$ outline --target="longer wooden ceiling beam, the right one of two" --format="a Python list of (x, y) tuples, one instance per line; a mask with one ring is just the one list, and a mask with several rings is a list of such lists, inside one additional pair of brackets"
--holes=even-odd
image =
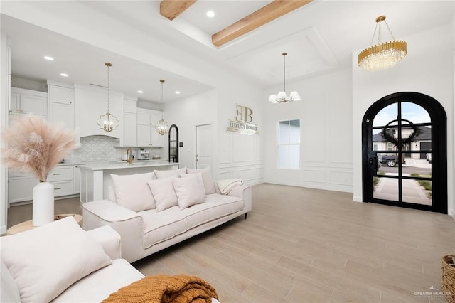
[(218, 31), (212, 35), (212, 43), (215, 46), (223, 46), (235, 38), (248, 33), (265, 23), (279, 18), (294, 9), (309, 4), (313, 0), (274, 0), (272, 3), (263, 6), (252, 14), (232, 23), (227, 28)]

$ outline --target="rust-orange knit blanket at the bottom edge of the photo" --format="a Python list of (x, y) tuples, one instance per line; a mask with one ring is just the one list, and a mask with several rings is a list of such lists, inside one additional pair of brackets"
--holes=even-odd
[(199, 277), (155, 275), (122, 287), (102, 302), (210, 303), (218, 299), (215, 289)]

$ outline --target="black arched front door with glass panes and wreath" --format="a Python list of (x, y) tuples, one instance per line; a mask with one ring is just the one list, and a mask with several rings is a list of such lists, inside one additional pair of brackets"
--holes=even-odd
[(375, 102), (362, 122), (363, 201), (447, 213), (446, 120), (418, 92)]

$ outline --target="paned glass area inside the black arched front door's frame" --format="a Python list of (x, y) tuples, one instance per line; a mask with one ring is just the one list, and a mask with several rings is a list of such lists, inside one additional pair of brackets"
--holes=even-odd
[[(373, 199), (432, 205), (432, 128), (429, 114), (412, 102), (383, 107), (373, 119), (370, 171)], [(370, 166), (372, 167), (372, 166)]]

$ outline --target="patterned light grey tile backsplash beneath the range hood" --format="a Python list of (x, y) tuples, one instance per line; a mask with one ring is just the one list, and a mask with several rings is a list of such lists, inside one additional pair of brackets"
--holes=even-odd
[(119, 139), (109, 136), (80, 137), (80, 147), (76, 149), (65, 161), (67, 162), (92, 162), (115, 161)]

